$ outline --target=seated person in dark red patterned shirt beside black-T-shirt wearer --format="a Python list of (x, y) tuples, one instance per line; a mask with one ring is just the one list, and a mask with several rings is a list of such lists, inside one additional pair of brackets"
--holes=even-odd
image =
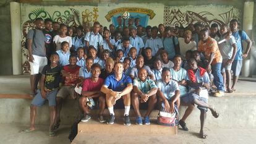
[(64, 85), (59, 90), (56, 97), (56, 119), (54, 124), (54, 129), (58, 129), (61, 122), (61, 108), (62, 101), (70, 96), (70, 98), (75, 99), (75, 86), (79, 82), (79, 69), (77, 66), (77, 56), (75, 54), (70, 55), (69, 57), (69, 65), (63, 67), (64, 69)]

